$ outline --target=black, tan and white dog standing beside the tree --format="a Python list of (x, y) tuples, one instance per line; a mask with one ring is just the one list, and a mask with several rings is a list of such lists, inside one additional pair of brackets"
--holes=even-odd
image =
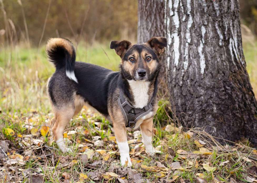
[(111, 41), (110, 48), (121, 57), (120, 71), (114, 72), (75, 62), (76, 52), (71, 41), (49, 39), (46, 53), (56, 71), (48, 81), (48, 95), (55, 114), (52, 133), (60, 150), (71, 151), (63, 142), (64, 129), (73, 116), (88, 105), (113, 123), (122, 166), (132, 165), (127, 127), (140, 126), (146, 153), (157, 153), (152, 146), (153, 116), (157, 110), (159, 56), (166, 46), (164, 37), (153, 37), (146, 43), (134, 45), (126, 40)]

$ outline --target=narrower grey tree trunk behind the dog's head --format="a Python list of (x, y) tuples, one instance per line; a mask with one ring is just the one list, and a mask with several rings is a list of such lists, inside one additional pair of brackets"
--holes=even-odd
[[(137, 43), (145, 43), (154, 36), (166, 36), (164, 9), (164, 0), (138, 0)], [(166, 54), (160, 57), (160, 61), (159, 81), (166, 85)]]

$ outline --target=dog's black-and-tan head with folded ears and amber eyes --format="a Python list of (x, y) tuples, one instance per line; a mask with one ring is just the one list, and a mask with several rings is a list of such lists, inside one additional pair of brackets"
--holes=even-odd
[(159, 56), (167, 46), (164, 37), (153, 37), (144, 44), (111, 41), (110, 48), (121, 57), (121, 74), (128, 80), (151, 81), (160, 70)]

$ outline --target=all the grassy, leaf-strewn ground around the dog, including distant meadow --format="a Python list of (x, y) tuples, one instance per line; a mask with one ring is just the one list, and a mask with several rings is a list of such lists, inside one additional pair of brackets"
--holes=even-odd
[[(256, 48), (244, 46), (255, 93)], [(77, 60), (117, 71), (120, 59), (108, 44), (81, 43)], [(161, 94), (153, 138), (161, 154), (148, 156), (135, 129), (127, 133), (133, 167), (121, 167), (112, 124), (86, 107), (63, 134), (73, 152), (61, 153), (51, 136), (53, 113), (46, 93), (54, 70), (44, 47), (0, 51), (1, 183), (257, 182), (257, 150), (247, 140), (220, 145), (201, 129), (183, 128), (168, 117), (170, 104)]]

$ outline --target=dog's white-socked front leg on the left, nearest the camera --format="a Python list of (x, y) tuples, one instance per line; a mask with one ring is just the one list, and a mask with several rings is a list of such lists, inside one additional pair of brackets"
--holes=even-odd
[(130, 167), (132, 166), (132, 163), (129, 157), (129, 144), (127, 141), (127, 129), (125, 127), (125, 124), (113, 123), (113, 129), (118, 147), (120, 149), (121, 165), (123, 166), (127, 162), (127, 166)]

